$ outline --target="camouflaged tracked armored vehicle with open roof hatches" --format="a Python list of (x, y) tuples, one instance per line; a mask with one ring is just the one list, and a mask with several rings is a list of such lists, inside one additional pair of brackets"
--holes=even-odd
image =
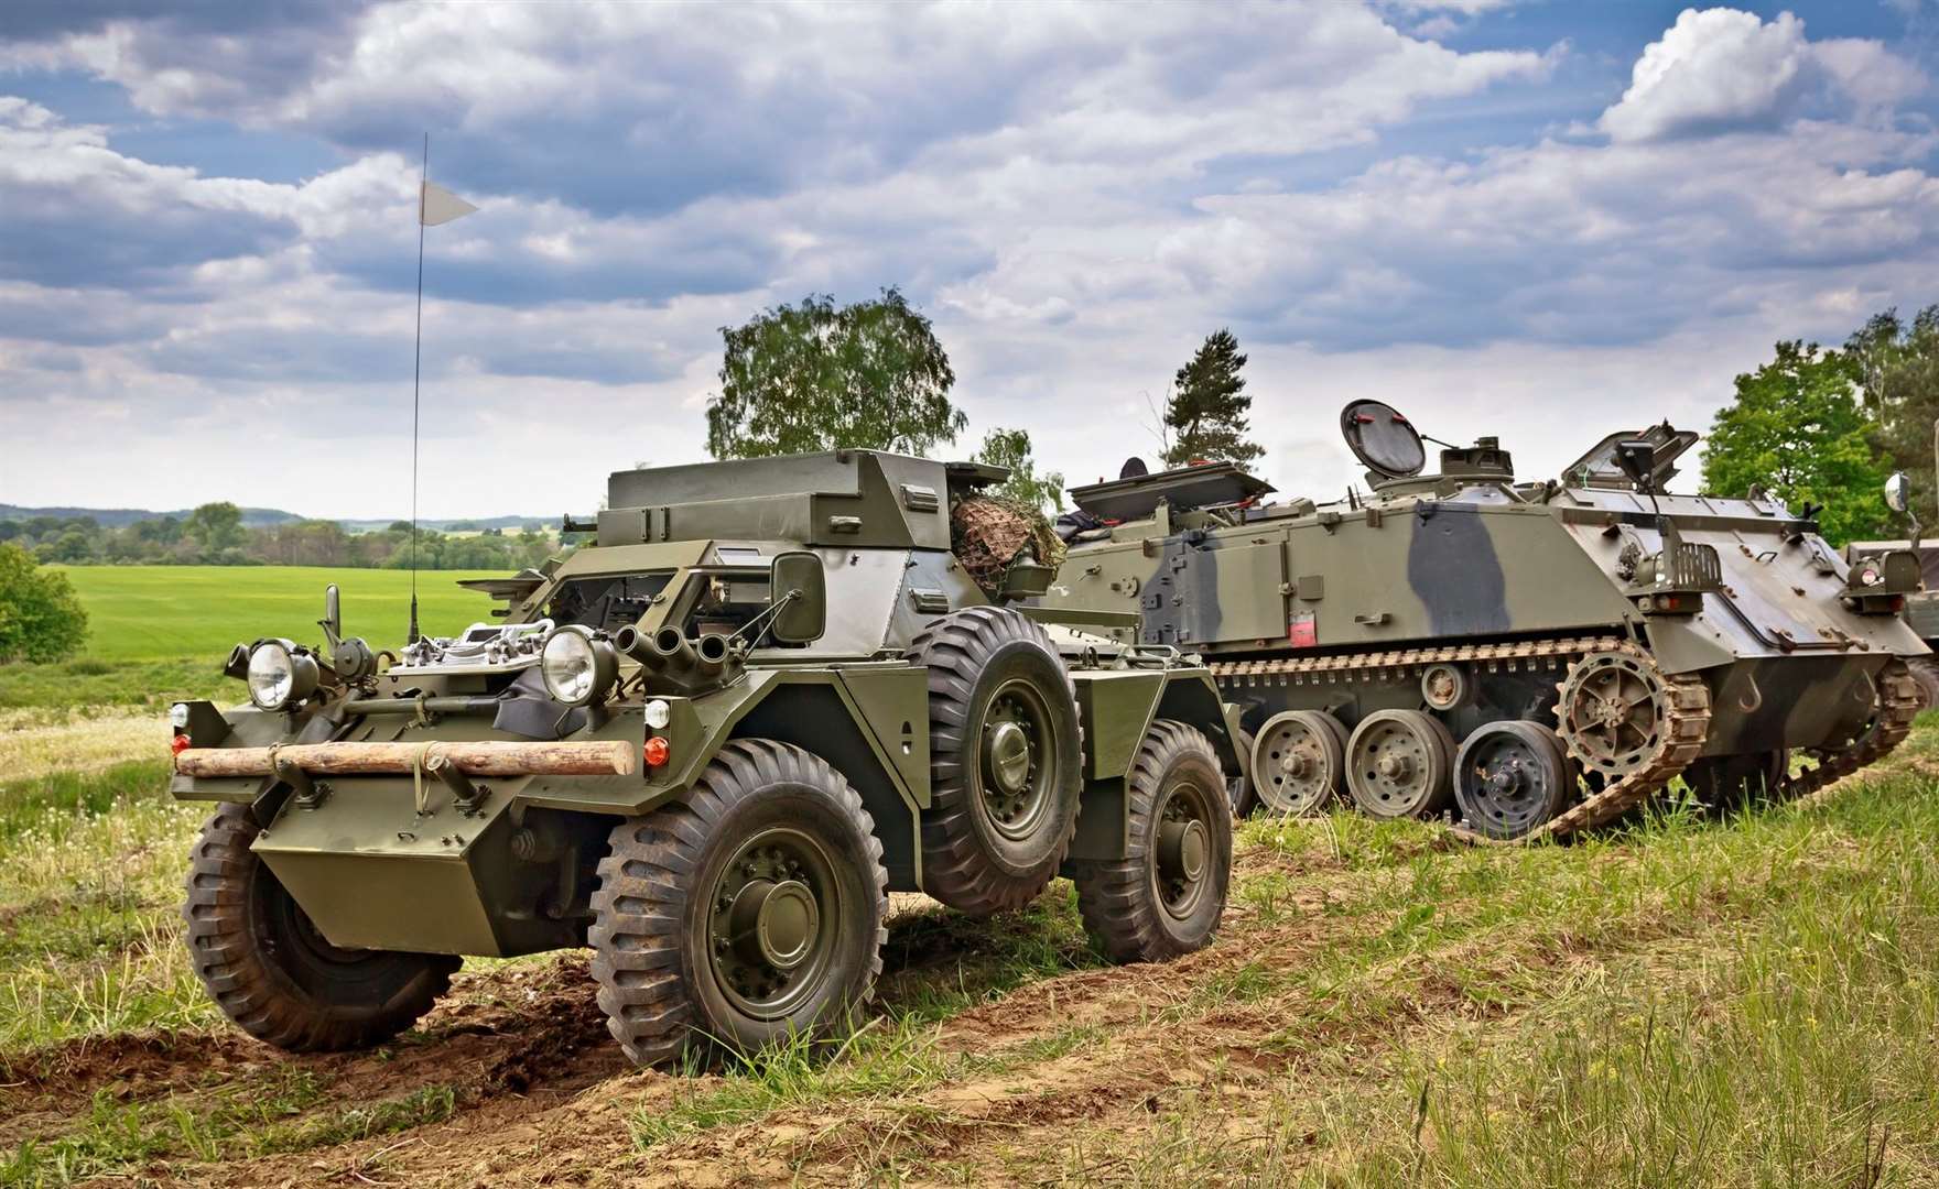
[(1805, 792), (1906, 734), (1918, 560), (1848, 565), (1815, 509), (1668, 494), (1697, 434), (1611, 434), (1524, 482), (1495, 438), (1423, 474), (1379, 401), (1340, 426), (1371, 488), (1340, 502), (1268, 502), (1233, 465), (1074, 488), (1043, 600), (1138, 610), (1119, 641), (1204, 655), (1264, 806), (1534, 838), (1677, 777), (1714, 804)]

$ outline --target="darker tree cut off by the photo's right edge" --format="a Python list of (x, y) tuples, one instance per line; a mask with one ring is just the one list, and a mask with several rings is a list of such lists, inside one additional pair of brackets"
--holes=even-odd
[(1877, 420), (1873, 443), (1912, 478), (1912, 507), (1933, 521), (1933, 422), (1939, 420), (1939, 306), (1910, 323), (1898, 310), (1875, 314), (1844, 352), (1854, 362), (1865, 409)]

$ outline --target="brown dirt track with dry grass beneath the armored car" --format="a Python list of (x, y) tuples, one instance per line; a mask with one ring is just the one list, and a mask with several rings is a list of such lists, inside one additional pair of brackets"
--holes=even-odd
[[(1280, 978), (1338, 947), (1377, 943), (1388, 912), (1355, 900), (1408, 879), (1408, 854), (1344, 868), (1313, 850), (1241, 854), (1241, 883), (1274, 885), (1270, 908), (1235, 900), (1212, 949), (1169, 966), (1092, 968), (1028, 982), (909, 1038), (915, 1059), (880, 1084), (727, 1098), (747, 1079), (630, 1069), (609, 1042), (582, 955), (461, 974), (423, 1034), (380, 1053), (285, 1057), (233, 1032), (140, 1036), (39, 1053), (39, 1069), (0, 1088), (0, 1143), (78, 1129), (103, 1094), (207, 1110), (293, 1073), (328, 1115), (413, 1090), (450, 1086), (436, 1123), (297, 1152), (198, 1162), (173, 1154), (142, 1170), (194, 1185), (619, 1185), (619, 1183), (1041, 1183), (1169, 1179), (1167, 1144), (1251, 1152), (1287, 1174), (1315, 1158), (1286, 1144), (1286, 1096), (1328, 1086), (1406, 1088), (1400, 1046), (1448, 1028), (1512, 1022), (1512, 1005), (1470, 995), (1460, 976), (1489, 962), (1485, 943), (1396, 959), (1406, 993), (1353, 997)], [(1712, 922), (1714, 924), (1714, 922)], [(962, 978), (935, 918), (892, 922), (882, 999), (909, 1005)], [(995, 926), (950, 926), (985, 930)], [(1615, 949), (1673, 945), (1702, 920), (1638, 920)], [(1605, 939), (1607, 941), (1607, 939)], [(1466, 951), (1466, 953), (1456, 953)], [(1479, 957), (1478, 957), (1479, 955)], [(1607, 953), (1569, 937), (1499, 955), (1516, 970), (1565, 978)], [(696, 1112), (721, 1098), (719, 1110)], [(640, 1119), (688, 1125), (642, 1139)], [(1179, 1135), (1181, 1127), (1198, 1129)], [(1305, 1144), (1313, 1144), (1311, 1133)], [(1264, 1152), (1264, 1156), (1260, 1156)]]

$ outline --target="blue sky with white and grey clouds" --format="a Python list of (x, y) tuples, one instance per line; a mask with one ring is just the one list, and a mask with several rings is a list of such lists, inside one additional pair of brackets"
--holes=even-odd
[(900, 285), (1072, 480), (1229, 325), (1264, 471), (1383, 397), (1551, 474), (1939, 300), (1939, 8), (10, 0), (0, 502), (588, 511), (719, 327)]

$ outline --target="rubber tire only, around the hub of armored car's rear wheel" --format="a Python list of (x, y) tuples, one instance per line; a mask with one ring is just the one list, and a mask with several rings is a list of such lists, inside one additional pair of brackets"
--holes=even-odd
[[(1206, 788), (1212, 821), (1212, 885), (1185, 920), (1158, 899), (1154, 866), (1156, 829), (1165, 798), (1183, 778)], [(1138, 744), (1138, 759), (1125, 782), (1130, 815), (1128, 854), (1113, 862), (1074, 864), (1078, 914), (1084, 930), (1117, 962), (1163, 962), (1204, 949), (1225, 914), (1231, 889), (1231, 806), (1224, 796), (1225, 775), (1218, 751), (1196, 728), (1160, 718)]]

